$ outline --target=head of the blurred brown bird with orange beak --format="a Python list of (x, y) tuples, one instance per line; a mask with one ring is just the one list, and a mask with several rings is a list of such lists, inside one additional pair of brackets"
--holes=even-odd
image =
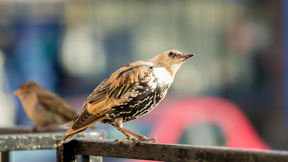
[(37, 89), (42, 89), (43, 87), (34, 81), (26, 81), (21, 83), (18, 88), (13, 92), (14, 96), (18, 96), (19, 98), (33, 92)]

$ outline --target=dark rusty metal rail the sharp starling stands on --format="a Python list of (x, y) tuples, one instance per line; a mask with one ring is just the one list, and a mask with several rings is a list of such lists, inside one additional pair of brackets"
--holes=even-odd
[[(57, 141), (59, 142), (59, 140)], [(245, 150), (216, 146), (191, 146), (180, 144), (144, 143), (137, 144), (132, 150), (129, 142), (112, 144), (113, 140), (91, 140), (75, 138), (57, 148), (57, 162), (73, 161), (76, 155), (93, 155), (139, 160), (156, 161), (277, 161), (287, 162), (288, 151)]]

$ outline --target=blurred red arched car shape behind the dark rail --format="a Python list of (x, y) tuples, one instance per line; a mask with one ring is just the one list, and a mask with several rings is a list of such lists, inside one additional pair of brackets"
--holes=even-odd
[(159, 143), (176, 144), (187, 127), (211, 123), (221, 129), (226, 141), (224, 146), (270, 149), (245, 113), (227, 99), (212, 96), (186, 98), (162, 110), (165, 111), (155, 120), (148, 136), (156, 137)]

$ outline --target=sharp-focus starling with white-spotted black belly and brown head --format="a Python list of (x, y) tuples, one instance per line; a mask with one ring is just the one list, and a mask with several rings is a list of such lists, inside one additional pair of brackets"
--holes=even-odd
[(127, 136), (113, 143), (132, 140), (130, 146), (133, 146), (141, 141), (156, 142), (156, 138), (124, 128), (122, 122), (137, 119), (155, 108), (166, 95), (177, 70), (191, 56), (194, 54), (169, 50), (150, 60), (126, 64), (109, 75), (88, 96), (78, 117), (66, 125), (65, 128), (70, 128), (57, 146), (98, 121), (113, 125)]

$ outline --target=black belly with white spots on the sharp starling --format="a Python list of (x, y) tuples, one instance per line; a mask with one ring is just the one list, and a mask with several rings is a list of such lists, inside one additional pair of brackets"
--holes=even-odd
[(123, 121), (137, 119), (155, 108), (165, 97), (170, 85), (159, 84), (158, 78), (151, 76), (152, 80), (135, 83), (137, 89), (133, 89), (124, 103), (111, 107), (113, 111), (103, 123), (113, 123), (115, 119), (123, 117)]

